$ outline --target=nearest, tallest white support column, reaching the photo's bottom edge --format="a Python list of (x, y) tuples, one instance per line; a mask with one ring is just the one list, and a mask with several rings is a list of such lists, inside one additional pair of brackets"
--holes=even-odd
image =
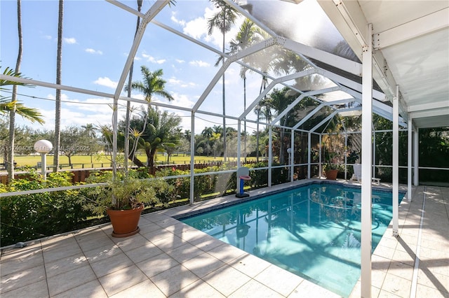
[[(368, 36), (373, 25), (368, 24)], [(373, 40), (362, 49), (362, 204), (361, 204), (361, 297), (371, 297), (371, 162), (373, 147)]]

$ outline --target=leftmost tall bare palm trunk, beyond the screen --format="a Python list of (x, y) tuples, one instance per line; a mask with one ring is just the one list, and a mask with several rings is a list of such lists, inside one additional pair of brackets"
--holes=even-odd
[[(20, 64), (22, 62), (22, 1), (17, 0), (17, 29), (19, 38), (19, 50), (17, 55), (17, 62), (15, 63), (15, 73), (20, 73)], [(17, 99), (17, 85), (13, 85), (13, 95), (11, 101)], [(8, 161), (6, 166), (8, 167), (8, 183), (14, 180), (14, 142), (15, 142), (15, 105), (9, 113), (9, 143), (8, 143)]]

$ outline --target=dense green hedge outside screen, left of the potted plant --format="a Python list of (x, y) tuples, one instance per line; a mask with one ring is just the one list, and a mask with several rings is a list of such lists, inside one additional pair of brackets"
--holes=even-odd
[[(0, 184), (0, 192), (70, 186), (71, 180), (69, 172), (51, 173), (43, 180), (31, 169), (26, 179)], [(1, 197), (1, 246), (79, 229), (91, 213), (83, 211), (78, 195), (79, 190), (64, 190)]]

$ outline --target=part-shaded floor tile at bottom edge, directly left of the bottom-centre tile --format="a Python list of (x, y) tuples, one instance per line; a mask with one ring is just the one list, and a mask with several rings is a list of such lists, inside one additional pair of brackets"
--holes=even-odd
[(195, 281), (198, 281), (199, 277), (179, 264), (150, 279), (164, 295), (170, 296)]

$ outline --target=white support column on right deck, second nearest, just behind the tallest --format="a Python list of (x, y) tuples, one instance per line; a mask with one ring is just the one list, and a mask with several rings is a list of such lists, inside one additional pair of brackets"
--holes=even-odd
[(393, 236), (399, 234), (399, 86), (393, 98)]

